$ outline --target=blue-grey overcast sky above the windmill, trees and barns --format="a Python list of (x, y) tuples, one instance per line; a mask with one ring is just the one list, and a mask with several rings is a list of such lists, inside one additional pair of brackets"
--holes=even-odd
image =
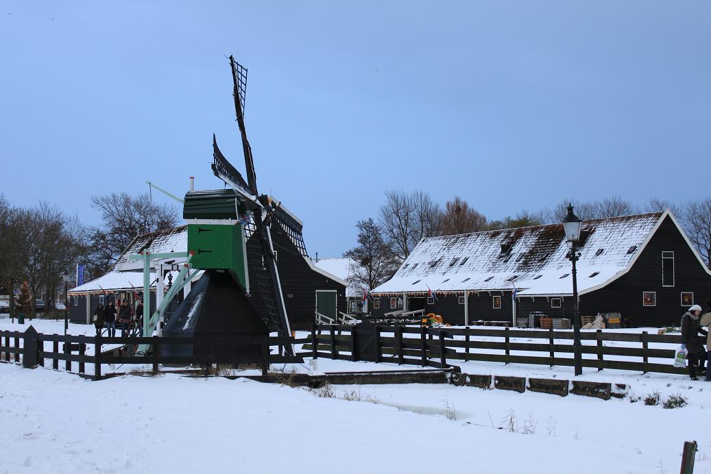
[(95, 224), (92, 195), (220, 188), (213, 132), (244, 169), (230, 54), (260, 192), (301, 217), (311, 255), (353, 247), (391, 188), (492, 219), (710, 195), (707, 0), (0, 4), (14, 205)]

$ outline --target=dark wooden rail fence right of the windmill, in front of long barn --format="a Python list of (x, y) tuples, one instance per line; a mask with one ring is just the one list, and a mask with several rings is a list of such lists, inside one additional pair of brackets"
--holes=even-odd
[[(680, 335), (597, 330), (584, 331), (580, 337), (583, 341), (583, 367), (594, 367), (597, 370), (634, 370), (643, 373), (686, 373), (685, 369), (672, 364), (675, 346), (681, 343)], [(521, 339), (527, 341), (522, 342)], [(572, 366), (572, 339), (572, 331), (553, 329), (413, 328), (380, 325), (370, 328), (332, 325), (324, 328), (314, 325), (308, 338), (309, 343), (304, 346), (304, 349), (310, 351), (301, 352), (301, 355), (440, 368), (451, 367), (453, 360)], [(564, 341), (567, 343), (563, 343)], [(594, 341), (594, 344), (585, 343), (586, 341)], [(631, 343), (634, 347), (614, 347), (606, 343)], [(650, 343), (663, 343), (666, 348), (650, 348)], [(624, 360), (619, 357), (624, 357)], [(663, 362), (650, 362), (650, 359), (662, 359)]]

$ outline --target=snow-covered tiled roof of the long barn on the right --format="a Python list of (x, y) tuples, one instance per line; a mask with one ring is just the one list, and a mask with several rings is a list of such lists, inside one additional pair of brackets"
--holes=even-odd
[[(579, 293), (626, 273), (667, 215), (670, 212), (582, 222)], [(511, 291), (515, 286), (521, 296), (571, 294), (568, 252), (562, 224), (430, 237), (373, 293)]]

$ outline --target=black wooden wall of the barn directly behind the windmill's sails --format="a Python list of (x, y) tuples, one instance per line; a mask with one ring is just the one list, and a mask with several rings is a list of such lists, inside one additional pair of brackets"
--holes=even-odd
[[(311, 328), (311, 324), (315, 322), (316, 290), (336, 290), (338, 311), (346, 312), (346, 286), (311, 270), (296, 246), (277, 226), (272, 228), (272, 244), (277, 251), (279, 279), (282, 282), (284, 305), (287, 308), (292, 330)], [(261, 252), (258, 239), (252, 237), (247, 240), (247, 252)], [(263, 318), (267, 318), (257, 277), (251, 267), (249, 274), (252, 305)]]

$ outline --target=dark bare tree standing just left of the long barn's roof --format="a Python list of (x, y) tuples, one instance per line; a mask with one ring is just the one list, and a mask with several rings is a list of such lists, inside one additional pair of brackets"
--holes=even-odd
[(389, 279), (397, 270), (397, 260), (392, 256), (380, 226), (372, 219), (359, 220), (358, 245), (348, 250), (344, 257), (355, 262), (351, 267), (351, 278), (360, 291), (370, 291)]

